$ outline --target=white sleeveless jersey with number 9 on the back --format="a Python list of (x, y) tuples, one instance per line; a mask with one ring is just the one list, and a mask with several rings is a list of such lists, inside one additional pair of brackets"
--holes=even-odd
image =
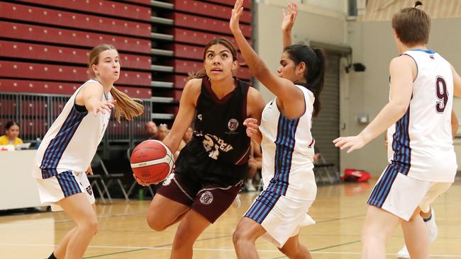
[(452, 182), (457, 164), (451, 134), (450, 64), (432, 50), (404, 54), (414, 59), (418, 74), (408, 110), (387, 131), (388, 159), (411, 178)]

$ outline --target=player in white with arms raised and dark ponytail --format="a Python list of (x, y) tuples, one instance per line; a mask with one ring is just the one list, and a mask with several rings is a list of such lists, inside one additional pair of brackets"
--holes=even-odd
[(264, 236), (289, 258), (311, 258), (299, 243), (299, 229), (315, 223), (307, 214), (317, 192), (311, 120), (320, 110), (325, 58), (321, 50), (291, 45), (297, 11), (293, 3), (282, 23), (284, 51), (278, 75), (272, 74), (239, 28), (242, 5), (243, 0), (235, 1), (230, 30), (252, 75), (276, 97), (263, 110), (259, 129), (256, 120), (245, 121), (247, 134), (262, 147), (265, 187), (235, 229), (235, 252), (238, 258), (258, 258), (255, 241)]

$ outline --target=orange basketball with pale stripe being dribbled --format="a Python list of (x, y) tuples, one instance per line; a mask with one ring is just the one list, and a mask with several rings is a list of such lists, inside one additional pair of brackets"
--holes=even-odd
[(145, 183), (160, 183), (171, 173), (173, 154), (158, 140), (146, 140), (135, 147), (131, 154), (131, 168), (136, 177)]

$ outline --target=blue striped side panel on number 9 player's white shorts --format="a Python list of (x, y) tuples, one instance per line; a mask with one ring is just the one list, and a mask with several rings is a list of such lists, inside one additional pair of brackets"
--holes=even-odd
[(386, 201), (387, 195), (391, 190), (392, 184), (399, 173), (399, 166), (391, 163), (387, 166), (386, 171), (384, 171), (382, 178), (379, 179), (376, 186), (374, 186), (372, 194), (367, 201), (367, 204), (373, 205), (376, 207), (382, 207)]

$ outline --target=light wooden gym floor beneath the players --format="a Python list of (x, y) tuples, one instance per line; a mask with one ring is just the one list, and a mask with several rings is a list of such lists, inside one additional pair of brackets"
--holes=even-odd
[[(317, 221), (301, 229), (301, 241), (313, 258), (360, 258), (360, 229), (373, 183), (321, 186), (311, 216)], [(235, 204), (199, 236), (194, 258), (235, 258), (232, 233), (257, 192), (243, 193)], [(145, 221), (149, 201), (117, 200), (97, 205), (99, 232), (84, 258), (169, 258), (177, 225), (163, 232), (151, 231)], [(455, 183), (433, 204), (438, 239), (431, 258), (461, 258), (461, 183)], [(62, 236), (74, 226), (65, 212), (45, 212), (0, 217), (0, 258), (47, 258)], [(404, 239), (396, 229), (387, 243), (387, 258), (396, 258)], [(260, 258), (286, 258), (263, 239), (257, 241)]]

